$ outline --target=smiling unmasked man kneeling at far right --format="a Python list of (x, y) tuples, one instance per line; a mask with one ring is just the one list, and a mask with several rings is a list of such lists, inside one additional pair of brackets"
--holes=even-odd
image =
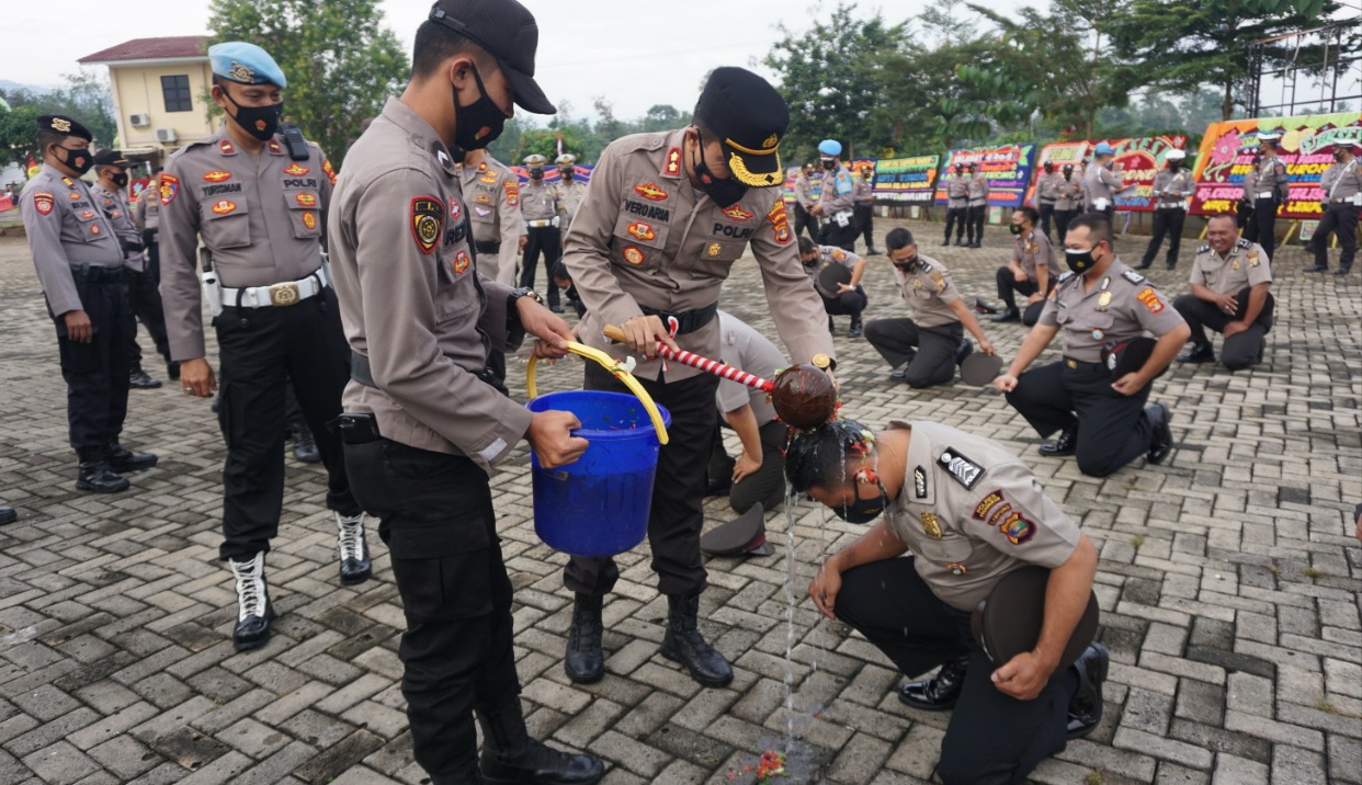
[(1192, 262), (1192, 293), (1173, 301), (1192, 330), (1179, 363), (1209, 363), (1215, 350), (1205, 328), (1224, 334), (1220, 361), (1230, 371), (1263, 357), (1263, 337), (1272, 328), (1272, 262), (1263, 247), (1239, 238), (1234, 217), (1212, 215), (1207, 244)]

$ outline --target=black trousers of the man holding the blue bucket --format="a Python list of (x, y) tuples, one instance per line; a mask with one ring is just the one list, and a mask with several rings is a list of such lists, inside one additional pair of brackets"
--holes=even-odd
[(346, 444), (345, 465), (355, 499), (379, 518), (402, 594), (398, 657), (417, 763), (452, 775), (477, 756), (473, 711), (520, 694), (488, 474), (462, 455), (388, 439)]

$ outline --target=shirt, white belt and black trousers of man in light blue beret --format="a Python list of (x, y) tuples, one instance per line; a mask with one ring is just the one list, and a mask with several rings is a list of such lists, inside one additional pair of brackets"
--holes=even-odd
[[(306, 155), (293, 159), (279, 136), (253, 155), (223, 128), (178, 150), (161, 174), (161, 293), (174, 360), (204, 356), (200, 240), (221, 288), (212, 326), (227, 442), (225, 560), (267, 552), (278, 534), (290, 380), (327, 469), (327, 507), (361, 512), (326, 427), (340, 414), (347, 378), (335, 293), (321, 267), (334, 172), (316, 144), (306, 143)], [(211, 285), (203, 288), (217, 300)]]

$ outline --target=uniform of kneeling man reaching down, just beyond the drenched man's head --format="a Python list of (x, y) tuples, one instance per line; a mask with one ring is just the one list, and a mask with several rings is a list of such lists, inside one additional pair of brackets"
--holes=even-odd
[(910, 387), (945, 384), (955, 379), (967, 345), (960, 318), (951, 309), (960, 290), (945, 264), (921, 253), (911, 271), (895, 267), (893, 275), (910, 316), (870, 320), (865, 339), (889, 365), (911, 363), (903, 376)]

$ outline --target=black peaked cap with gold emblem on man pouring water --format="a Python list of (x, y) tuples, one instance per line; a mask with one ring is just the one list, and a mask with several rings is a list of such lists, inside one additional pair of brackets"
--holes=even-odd
[(752, 188), (785, 184), (780, 139), (790, 127), (790, 108), (770, 82), (746, 68), (715, 68), (695, 119), (719, 138), (734, 180)]

